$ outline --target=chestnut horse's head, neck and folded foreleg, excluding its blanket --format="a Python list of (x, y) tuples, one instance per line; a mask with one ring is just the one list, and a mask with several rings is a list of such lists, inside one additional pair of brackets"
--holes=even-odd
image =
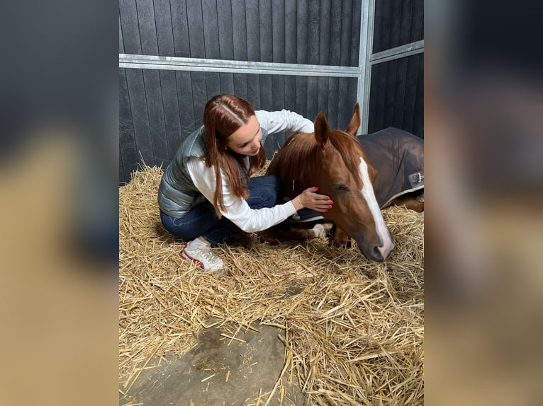
[[(318, 192), (334, 202), (332, 209), (320, 213), (325, 221), (335, 225), (333, 242), (342, 245), (352, 238), (366, 258), (382, 262), (395, 243), (374, 191), (377, 170), (366, 156), (361, 140), (357, 139), (359, 126), (358, 103), (345, 131), (330, 130), (324, 112), (320, 112), (315, 118), (315, 132), (292, 134), (272, 159), (267, 174), (280, 178), (285, 199), (296, 197), (307, 187), (318, 186)], [(410, 204), (409, 198), (398, 199), (402, 199), (402, 204)], [(390, 199), (386, 205), (394, 204), (395, 200), (396, 197)], [(415, 202), (418, 205), (415, 203), (415, 207), (410, 208), (421, 211), (421, 202)], [(269, 228), (261, 235), (272, 243), (277, 239), (303, 240), (319, 235), (314, 229), (292, 224), (285, 228), (285, 224)], [(317, 227), (323, 230), (322, 225)]]

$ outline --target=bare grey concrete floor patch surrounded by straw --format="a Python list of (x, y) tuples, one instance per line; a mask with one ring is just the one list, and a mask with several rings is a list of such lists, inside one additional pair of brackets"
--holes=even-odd
[[(265, 405), (284, 366), (284, 344), (278, 337), (283, 331), (254, 327), (260, 332), (237, 334), (245, 342), (221, 337), (216, 327), (203, 330), (198, 346), (181, 358), (167, 356), (167, 362), (160, 364), (153, 360), (158, 366), (142, 371), (130, 391), (119, 394), (119, 405)], [(287, 375), (288, 371), (282, 402), (278, 386), (268, 405), (305, 405), (297, 382), (289, 385)]]

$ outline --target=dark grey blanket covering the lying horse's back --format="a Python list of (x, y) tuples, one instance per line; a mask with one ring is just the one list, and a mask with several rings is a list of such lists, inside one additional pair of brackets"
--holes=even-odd
[(394, 127), (357, 139), (378, 171), (374, 192), (381, 209), (396, 197), (424, 189), (423, 139)]

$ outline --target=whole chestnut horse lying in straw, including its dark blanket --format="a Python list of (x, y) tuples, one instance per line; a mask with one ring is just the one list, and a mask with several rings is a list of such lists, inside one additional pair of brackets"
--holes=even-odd
[(335, 245), (352, 238), (368, 259), (386, 260), (395, 243), (381, 209), (391, 204), (424, 209), (424, 202), (413, 195), (424, 187), (423, 141), (392, 127), (357, 137), (359, 127), (357, 103), (345, 131), (330, 130), (320, 112), (313, 134), (292, 134), (285, 141), (267, 170), (281, 179), (284, 199), (318, 186), (318, 192), (330, 196), (334, 204), (318, 216), (322, 224), (313, 222), (313, 228), (307, 228), (286, 221), (263, 231), (264, 240), (305, 240), (329, 231)]

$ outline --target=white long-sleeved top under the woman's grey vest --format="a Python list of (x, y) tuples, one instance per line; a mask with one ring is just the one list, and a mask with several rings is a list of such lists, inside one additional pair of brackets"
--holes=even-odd
[[(268, 112), (258, 110), (255, 112), (260, 127), (267, 130), (268, 134), (276, 132), (313, 132), (313, 122), (298, 115), (296, 112), (281, 110)], [(248, 163), (248, 158), (246, 165)], [(206, 167), (206, 163), (198, 158), (191, 158), (187, 163), (187, 168), (194, 185), (201, 194), (213, 202), (215, 193), (215, 169)], [(277, 204), (275, 207), (263, 209), (251, 209), (245, 199), (235, 197), (230, 190), (230, 183), (225, 173), (221, 173), (223, 179), (223, 202), (225, 210), (221, 214), (232, 221), (242, 231), (252, 233), (265, 230), (271, 226), (285, 221), (287, 217), (296, 213), (292, 202)]]

